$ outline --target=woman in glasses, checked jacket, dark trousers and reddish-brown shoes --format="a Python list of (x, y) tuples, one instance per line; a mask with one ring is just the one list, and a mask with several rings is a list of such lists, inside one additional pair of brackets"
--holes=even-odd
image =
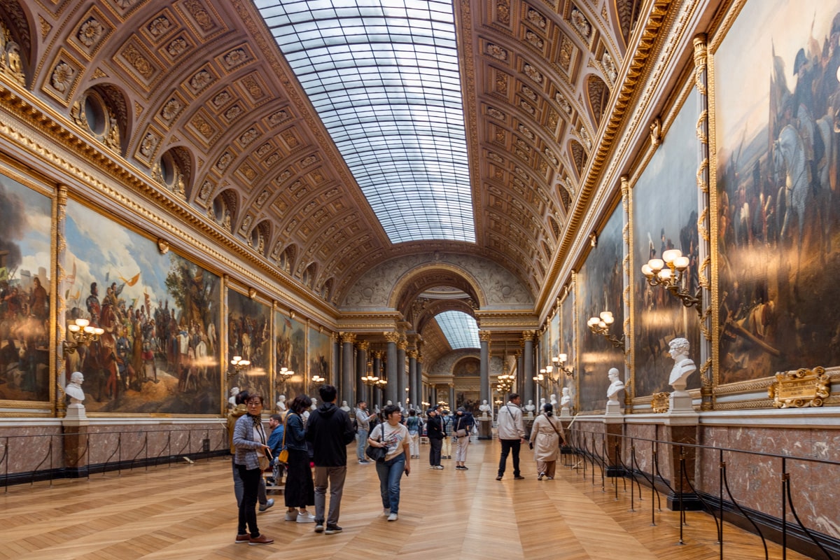
[[(270, 447), (268, 437), (265, 435), (265, 428), (262, 425), (263, 396), (260, 393), (251, 393), (248, 400), (245, 400), (248, 413), (239, 416), (234, 425), (234, 447), (236, 456), (234, 464), (239, 471), (239, 478), (242, 479), (243, 494), (239, 502), (239, 527), (236, 533), (236, 544), (250, 545), (271, 544), (274, 539), (260, 535), (257, 528), (257, 492), (260, 489), (262, 479), (262, 465), (268, 464)], [(246, 530), (246, 526), (247, 529)]]

